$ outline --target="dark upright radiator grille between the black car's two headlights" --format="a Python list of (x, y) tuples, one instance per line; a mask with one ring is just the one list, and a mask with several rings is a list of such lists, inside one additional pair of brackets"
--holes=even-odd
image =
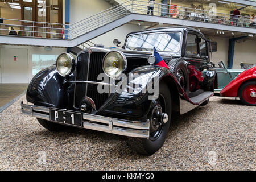
[[(89, 56), (88, 53), (82, 53), (77, 57), (77, 81), (97, 81), (97, 77), (100, 73), (104, 73), (102, 69), (102, 60), (106, 53), (104, 52), (92, 52)], [(90, 59), (90, 61), (89, 61)], [(89, 68), (88, 68), (89, 61)], [(108, 94), (100, 94), (97, 92), (97, 86), (94, 84), (76, 84), (75, 86), (75, 107), (80, 106), (80, 102), (83, 97), (87, 96), (92, 98), (96, 105), (96, 110), (100, 108), (102, 104), (108, 98)], [(87, 92), (86, 92), (87, 90)]]

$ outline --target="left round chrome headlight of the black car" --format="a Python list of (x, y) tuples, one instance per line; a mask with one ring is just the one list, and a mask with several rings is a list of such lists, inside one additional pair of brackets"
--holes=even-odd
[(69, 53), (61, 53), (56, 60), (56, 69), (61, 76), (67, 76), (75, 68), (75, 59)]

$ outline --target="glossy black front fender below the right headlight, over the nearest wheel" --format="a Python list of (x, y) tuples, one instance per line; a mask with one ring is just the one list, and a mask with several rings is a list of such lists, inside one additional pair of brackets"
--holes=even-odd
[[(170, 71), (163, 67), (151, 65), (138, 67), (130, 73), (137, 73), (139, 75), (138, 78), (134, 79), (139, 80), (141, 83), (139, 88), (133, 89), (132, 92), (130, 92), (131, 90), (123, 89), (121, 93), (112, 94), (105, 104), (101, 106), (98, 114), (109, 116), (118, 115), (119, 118), (146, 119), (152, 100), (148, 99), (150, 96), (148, 92), (144, 93), (142, 91), (145, 87), (152, 88), (152, 85), (156, 84), (156, 77), (160, 81), (164, 76), (170, 75)], [(130, 84), (131, 82), (127, 79), (127, 85)]]

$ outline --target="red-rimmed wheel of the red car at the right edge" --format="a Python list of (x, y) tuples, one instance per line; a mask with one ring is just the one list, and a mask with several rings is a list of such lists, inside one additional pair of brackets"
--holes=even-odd
[(256, 106), (256, 81), (249, 81), (242, 84), (238, 90), (238, 96), (243, 104)]

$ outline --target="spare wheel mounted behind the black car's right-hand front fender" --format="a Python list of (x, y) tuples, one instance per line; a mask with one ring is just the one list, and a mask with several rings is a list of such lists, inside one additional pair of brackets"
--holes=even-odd
[(173, 59), (168, 63), (171, 73), (177, 78), (185, 93), (189, 93), (189, 76), (187, 64), (181, 59)]

